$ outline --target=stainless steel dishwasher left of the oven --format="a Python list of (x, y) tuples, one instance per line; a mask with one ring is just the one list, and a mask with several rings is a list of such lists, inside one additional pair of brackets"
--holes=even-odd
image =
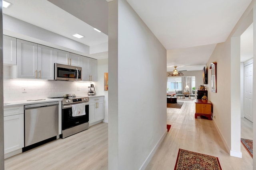
[(25, 105), (25, 147), (58, 135), (58, 104)]

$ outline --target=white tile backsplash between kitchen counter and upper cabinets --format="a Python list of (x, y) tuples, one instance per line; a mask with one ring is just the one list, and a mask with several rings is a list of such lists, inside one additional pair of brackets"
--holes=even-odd
[[(90, 84), (95, 83), (10, 79), (10, 66), (4, 66), (4, 102), (61, 97), (63, 94), (87, 96), (88, 86), (90, 86)], [(26, 89), (26, 93), (22, 93), (22, 88)]]

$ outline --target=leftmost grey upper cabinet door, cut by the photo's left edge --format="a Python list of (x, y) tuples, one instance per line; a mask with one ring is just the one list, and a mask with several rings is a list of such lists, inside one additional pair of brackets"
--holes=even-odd
[(3, 35), (3, 60), (4, 64), (16, 65), (17, 39)]

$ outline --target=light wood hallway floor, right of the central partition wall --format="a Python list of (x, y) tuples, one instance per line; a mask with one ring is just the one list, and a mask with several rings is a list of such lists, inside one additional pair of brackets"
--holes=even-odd
[[(167, 124), (172, 127), (146, 170), (174, 169), (179, 148), (216, 156), (223, 170), (252, 170), (252, 158), (242, 144), (242, 158), (229, 156), (213, 121), (195, 119), (194, 111), (194, 102), (187, 101), (184, 101), (181, 109), (167, 108)], [(247, 125), (246, 121), (241, 124)], [(241, 127), (241, 130), (246, 131), (241, 134), (252, 133), (250, 125)]]

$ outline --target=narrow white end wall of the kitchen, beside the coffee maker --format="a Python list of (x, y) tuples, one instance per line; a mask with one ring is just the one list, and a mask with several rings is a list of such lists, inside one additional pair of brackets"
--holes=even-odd
[(108, 59), (98, 60), (98, 81), (95, 82), (97, 95), (104, 95), (104, 120), (108, 123), (108, 91), (104, 91), (104, 72), (108, 72)]

